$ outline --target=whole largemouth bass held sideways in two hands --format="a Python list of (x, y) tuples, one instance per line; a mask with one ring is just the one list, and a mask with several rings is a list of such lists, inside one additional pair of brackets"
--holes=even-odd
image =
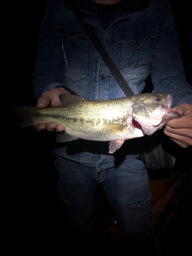
[(109, 141), (109, 153), (113, 154), (125, 140), (152, 135), (168, 120), (180, 118), (180, 114), (171, 109), (172, 93), (143, 93), (100, 100), (59, 94), (59, 99), (62, 106), (15, 108), (17, 128), (55, 122), (65, 127), (65, 132), (57, 134), (57, 141), (67, 142), (78, 138)]

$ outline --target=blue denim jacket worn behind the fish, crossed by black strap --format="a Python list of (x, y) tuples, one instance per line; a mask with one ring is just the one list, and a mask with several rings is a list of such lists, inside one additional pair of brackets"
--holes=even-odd
[[(192, 87), (186, 82), (166, 0), (123, 1), (107, 22), (102, 21), (93, 2), (70, 3), (50, 0), (42, 19), (34, 71), (37, 98), (63, 85), (85, 99), (125, 96), (84, 32), (82, 22), (94, 27), (134, 94), (142, 92), (151, 74), (154, 91), (173, 93), (172, 106), (192, 103)], [(74, 8), (81, 10), (81, 22)], [(84, 165), (97, 165), (98, 170), (114, 166), (115, 159), (126, 162), (140, 153), (138, 139), (126, 141), (113, 155), (107, 153), (108, 145), (78, 139), (58, 144), (55, 153)]]

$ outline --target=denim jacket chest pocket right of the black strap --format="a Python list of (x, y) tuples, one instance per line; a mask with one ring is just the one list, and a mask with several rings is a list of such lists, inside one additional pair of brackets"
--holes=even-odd
[(119, 40), (118, 68), (130, 85), (146, 79), (154, 47), (155, 36), (127, 36)]

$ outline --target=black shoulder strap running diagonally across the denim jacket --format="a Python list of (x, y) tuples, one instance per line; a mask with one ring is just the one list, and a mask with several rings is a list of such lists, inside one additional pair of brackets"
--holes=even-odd
[(93, 45), (97, 49), (98, 53), (102, 57), (103, 61), (105, 62), (106, 66), (108, 66), (112, 75), (117, 80), (119, 86), (121, 87), (121, 89), (123, 90), (125, 95), (126, 96), (134, 95), (131, 88), (129, 87), (129, 85), (125, 81), (124, 77), (122, 76), (121, 72), (119, 71), (119, 69), (115, 65), (114, 61), (112, 60), (112, 58), (110, 57), (108, 52), (104, 49), (101, 41), (99, 40), (97, 34), (94, 31), (93, 26), (91, 26), (89, 24), (86, 24), (86, 23), (82, 23), (82, 22), (81, 22), (81, 24), (82, 24), (84, 30), (87, 32), (87, 35), (90, 38), (90, 40), (92, 41)]

